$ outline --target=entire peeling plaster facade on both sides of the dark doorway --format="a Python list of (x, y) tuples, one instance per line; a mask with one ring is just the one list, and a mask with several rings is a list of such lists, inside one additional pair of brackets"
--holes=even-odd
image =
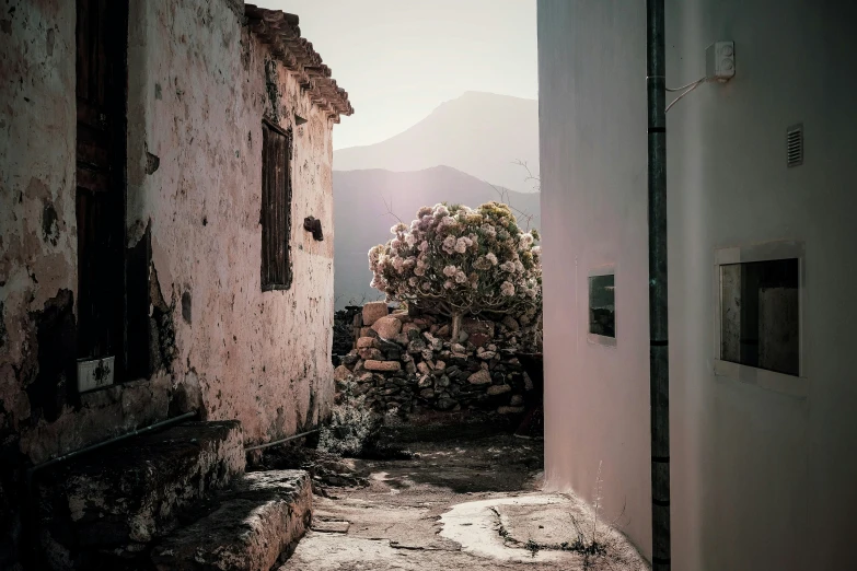
[[(158, 366), (151, 378), (78, 395), (72, 368), (56, 364), (76, 356), (74, 2), (12, 1), (0, 13), (7, 468), (193, 406), (241, 420), (251, 442), (329, 410), (332, 121), (243, 26), (242, 2), (131, 0), (129, 20), (127, 246), (151, 241)], [(287, 128), (296, 113), (308, 123), (293, 127), (294, 279), (263, 293), (262, 119)], [(323, 242), (303, 230), (308, 215), (322, 221)], [(10, 496), (0, 487), (0, 511)]]

